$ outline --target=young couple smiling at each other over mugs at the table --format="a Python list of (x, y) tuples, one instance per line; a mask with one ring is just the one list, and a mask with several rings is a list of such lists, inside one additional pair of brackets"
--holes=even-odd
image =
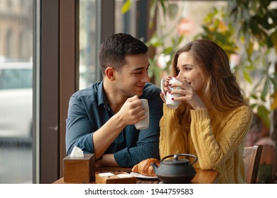
[[(103, 80), (70, 98), (67, 155), (77, 146), (94, 153), (99, 166), (133, 167), (147, 158), (176, 153), (197, 156), (195, 167), (217, 170), (220, 183), (244, 183), (244, 140), (251, 107), (229, 66), (227, 54), (210, 40), (194, 40), (173, 57), (168, 86), (181, 96), (177, 109), (164, 104), (161, 89), (150, 83), (148, 47), (131, 35), (107, 37), (99, 50)], [(140, 98), (148, 100), (149, 127)]]

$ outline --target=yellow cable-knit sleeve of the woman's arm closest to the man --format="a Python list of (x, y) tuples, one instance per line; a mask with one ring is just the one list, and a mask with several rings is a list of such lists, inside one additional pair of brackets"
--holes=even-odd
[(182, 132), (176, 110), (170, 109), (163, 104), (163, 117), (160, 120), (160, 157), (185, 153), (186, 137)]

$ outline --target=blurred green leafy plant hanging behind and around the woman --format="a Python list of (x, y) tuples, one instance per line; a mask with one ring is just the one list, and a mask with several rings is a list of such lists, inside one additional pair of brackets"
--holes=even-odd
[[(169, 2), (151, 0), (149, 28), (152, 27), (158, 9), (163, 17), (174, 13), (170, 11)], [(125, 7), (122, 7), (124, 11), (128, 10), (130, 4), (130, 0), (125, 2)], [(239, 62), (233, 65), (233, 69), (240, 82), (252, 85), (252, 90), (246, 95), (249, 103), (266, 126), (269, 127), (271, 120), (277, 127), (277, 73), (276, 69), (272, 69), (274, 66), (277, 68), (277, 63), (276, 59), (270, 59), (270, 54), (271, 57), (274, 57), (274, 53), (277, 54), (277, 9), (270, 6), (271, 0), (229, 0), (227, 4), (226, 7), (214, 8), (207, 14), (202, 25), (203, 31), (195, 38), (214, 40), (230, 57), (239, 54)], [(165, 45), (168, 37), (171, 42)], [(182, 35), (170, 36), (170, 30), (163, 35), (154, 32), (147, 44), (162, 50), (153, 56), (151, 62), (158, 65), (160, 54), (172, 57), (182, 40)], [(164, 67), (155, 66), (151, 75), (159, 80), (163, 71), (168, 72), (170, 60), (167, 59)], [(274, 112), (273, 117), (271, 112)], [(273, 138), (277, 139), (277, 132)]]

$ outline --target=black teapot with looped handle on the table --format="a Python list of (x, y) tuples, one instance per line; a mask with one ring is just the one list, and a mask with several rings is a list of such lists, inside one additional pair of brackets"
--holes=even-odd
[[(195, 158), (190, 163), (188, 159), (179, 159), (179, 156), (188, 156)], [(166, 158), (173, 157), (173, 160), (164, 161)], [(161, 165), (151, 163), (159, 180), (163, 183), (182, 184), (189, 183), (195, 176), (195, 168), (192, 165), (197, 161), (197, 156), (191, 154), (175, 154), (166, 156), (161, 160)]]

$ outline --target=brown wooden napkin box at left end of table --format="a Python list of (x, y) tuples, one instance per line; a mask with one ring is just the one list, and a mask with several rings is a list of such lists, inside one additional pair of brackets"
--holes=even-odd
[(94, 153), (85, 153), (84, 157), (63, 158), (63, 180), (65, 182), (95, 181)]

